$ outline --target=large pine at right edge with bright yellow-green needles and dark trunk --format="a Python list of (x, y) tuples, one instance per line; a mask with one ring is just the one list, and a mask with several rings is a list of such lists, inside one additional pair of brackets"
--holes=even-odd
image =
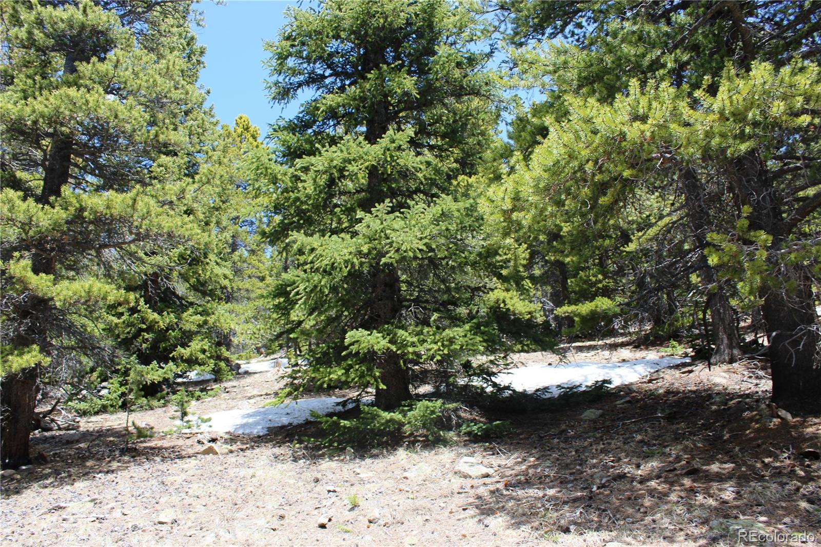
[[(746, 296), (764, 316), (773, 400), (818, 408), (813, 241), (821, 197), (811, 91), (817, 69), (810, 61), (819, 53), (819, 5), (502, 7), (512, 13), (511, 41), (531, 46), (516, 61), (553, 105), (540, 124), (565, 135), (556, 138), (565, 139), (566, 151), (551, 145), (549, 161), (573, 156), (579, 165), (585, 158), (580, 184), (615, 194), (637, 185), (675, 189), (708, 290), (716, 360), (740, 355), (731, 300)], [(712, 127), (702, 123), (708, 115)]]

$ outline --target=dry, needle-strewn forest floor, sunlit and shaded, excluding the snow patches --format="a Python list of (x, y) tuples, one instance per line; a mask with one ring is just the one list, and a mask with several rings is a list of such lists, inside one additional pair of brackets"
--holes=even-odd
[[(624, 340), (576, 343), (570, 361), (658, 357)], [(553, 354), (518, 356), (525, 365)], [(191, 413), (261, 407), (282, 373), (241, 375)], [(501, 439), (328, 454), (262, 437), (162, 434), (124, 452), (125, 414), (35, 434), (49, 462), (2, 479), (5, 545), (735, 545), (739, 523), (821, 541), (821, 419), (762, 420), (766, 365), (694, 361), (506, 419)], [(584, 420), (589, 409), (603, 411)], [(156, 431), (172, 407), (133, 413)], [(768, 423), (764, 423), (768, 422)], [(200, 454), (213, 445), (219, 454)], [(801, 454), (804, 454), (803, 456)], [(471, 456), (493, 474), (455, 472)], [(770, 545), (802, 545), (800, 536)], [(793, 540), (793, 541), (791, 541)], [(810, 540), (812, 538), (810, 537)], [(803, 544), (805, 545), (805, 544)]]

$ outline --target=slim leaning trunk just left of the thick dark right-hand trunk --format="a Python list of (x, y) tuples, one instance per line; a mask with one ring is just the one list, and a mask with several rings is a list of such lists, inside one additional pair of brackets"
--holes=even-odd
[(704, 189), (701, 187), (695, 170), (691, 167), (681, 169), (679, 182), (681, 191), (684, 193), (687, 218), (699, 253), (699, 274), (709, 290), (707, 305), (713, 324), (714, 345), (710, 362), (716, 365), (735, 363), (744, 356), (744, 352), (741, 351), (741, 339), (736, 329), (736, 316), (732, 313), (724, 283), (718, 278), (716, 270), (709, 264), (707, 255), (704, 254), (704, 249), (707, 248), (707, 234), (711, 228), (709, 211), (704, 203)]

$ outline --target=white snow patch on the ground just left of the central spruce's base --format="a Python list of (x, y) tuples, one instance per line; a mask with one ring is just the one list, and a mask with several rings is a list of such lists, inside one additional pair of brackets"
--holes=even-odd
[(207, 416), (211, 420), (200, 425), (200, 430), (241, 435), (264, 435), (273, 427), (301, 424), (312, 420), (311, 411), (317, 411), (319, 414), (325, 415), (332, 412), (341, 412), (356, 405), (355, 402), (342, 405), (343, 401), (345, 399), (337, 397), (321, 397), (285, 402), (277, 407), (216, 412)]

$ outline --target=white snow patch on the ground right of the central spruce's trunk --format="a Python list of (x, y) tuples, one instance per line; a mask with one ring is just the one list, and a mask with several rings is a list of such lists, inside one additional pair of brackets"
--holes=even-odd
[(580, 385), (582, 388), (596, 382), (609, 379), (610, 387), (630, 384), (649, 375), (654, 370), (666, 368), (690, 361), (689, 357), (660, 357), (658, 359), (639, 359), (621, 363), (566, 363), (562, 365), (531, 365), (520, 369), (511, 369), (496, 376), (496, 381), (509, 385), (516, 391), (540, 393), (544, 397), (555, 397), (562, 387)]

